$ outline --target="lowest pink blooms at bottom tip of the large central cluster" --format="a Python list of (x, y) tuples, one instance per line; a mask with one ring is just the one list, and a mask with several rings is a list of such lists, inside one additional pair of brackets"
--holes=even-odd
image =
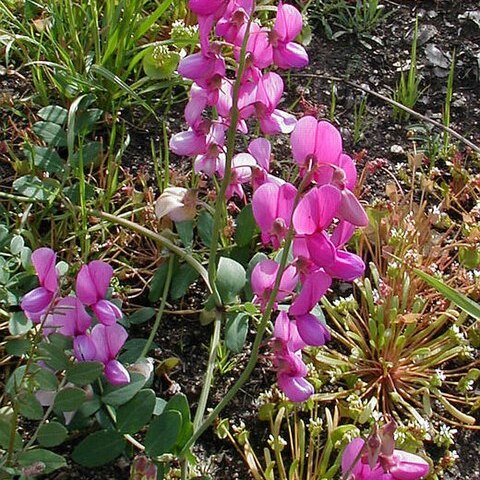
[(286, 312), (280, 312), (273, 332), (273, 364), (277, 369), (279, 388), (292, 402), (303, 402), (314, 393), (313, 386), (305, 379), (308, 370), (302, 360), (305, 346), (295, 322)]

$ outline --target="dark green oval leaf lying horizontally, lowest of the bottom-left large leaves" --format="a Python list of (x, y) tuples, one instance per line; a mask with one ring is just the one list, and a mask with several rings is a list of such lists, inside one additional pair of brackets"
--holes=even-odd
[(84, 467), (99, 467), (115, 460), (125, 448), (123, 435), (114, 430), (100, 430), (84, 438), (73, 450), (72, 458)]

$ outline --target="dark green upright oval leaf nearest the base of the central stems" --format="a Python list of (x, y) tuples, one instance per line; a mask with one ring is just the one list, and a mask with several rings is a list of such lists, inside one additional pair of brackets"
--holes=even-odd
[(145, 436), (145, 452), (156, 457), (173, 452), (182, 428), (182, 415), (177, 410), (163, 412), (155, 418)]

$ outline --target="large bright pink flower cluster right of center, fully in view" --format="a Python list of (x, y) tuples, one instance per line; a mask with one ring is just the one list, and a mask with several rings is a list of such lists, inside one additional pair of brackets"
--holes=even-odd
[[(330, 338), (312, 310), (332, 279), (351, 281), (363, 274), (363, 261), (343, 247), (355, 227), (367, 225), (368, 219), (352, 192), (355, 165), (343, 153), (335, 127), (303, 117), (292, 133), (291, 146), (306, 193), (299, 193), (290, 183), (267, 180), (255, 190), (252, 208), (264, 244), (278, 249), (289, 228), (294, 230), (294, 258), (283, 273), (276, 297), (281, 301), (292, 296), (293, 302), (288, 313), (281, 311), (277, 316), (273, 350), (280, 388), (300, 402), (313, 393), (305, 379), (301, 350), (307, 345), (321, 346)], [(268, 302), (278, 268), (273, 260), (265, 260), (252, 272), (252, 289), (261, 308)]]

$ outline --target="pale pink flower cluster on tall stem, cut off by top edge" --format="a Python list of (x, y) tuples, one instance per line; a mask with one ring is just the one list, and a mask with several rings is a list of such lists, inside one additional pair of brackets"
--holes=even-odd
[[(253, 21), (253, 0), (190, 0), (189, 6), (198, 16), (201, 50), (183, 58), (178, 67), (180, 75), (194, 83), (185, 108), (189, 129), (171, 138), (170, 149), (177, 155), (195, 157), (196, 173), (223, 178), (225, 135), (231, 121), (235, 84), (227, 76), (223, 51), (233, 51), (238, 61), (248, 35), (238, 94), (238, 130), (247, 133), (247, 120), (254, 117), (265, 134), (291, 133), (295, 117), (277, 108), (283, 80), (276, 72), (262, 70), (274, 65), (281, 69), (303, 67), (308, 63), (305, 49), (293, 41), (302, 29), (302, 16), (293, 6), (280, 3), (274, 25), (268, 29)], [(216, 41), (210, 40), (213, 31)], [(215, 120), (205, 118), (208, 108), (215, 108)], [(248, 153), (232, 160), (227, 197), (242, 197), (242, 184), (252, 181), (258, 185), (268, 178), (269, 162), (269, 142), (254, 140)]]

